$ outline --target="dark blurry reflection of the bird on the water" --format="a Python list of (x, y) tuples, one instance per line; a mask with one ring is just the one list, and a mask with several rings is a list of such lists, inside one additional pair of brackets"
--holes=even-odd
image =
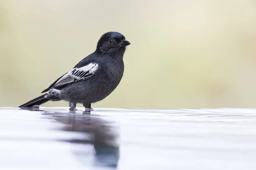
[[(116, 169), (119, 160), (119, 136), (114, 122), (108, 122), (102, 119), (101, 116), (90, 114), (87, 111), (83, 111), (82, 113), (75, 111), (56, 112), (44, 111), (38, 107), (22, 109), (41, 111), (44, 118), (61, 122), (64, 125), (61, 130), (84, 134), (84, 138), (82, 139), (60, 139), (60, 141), (76, 144), (93, 144), (95, 151), (94, 166), (108, 166)], [(81, 154), (83, 153), (75, 153), (76, 156), (81, 156)], [(78, 159), (81, 160), (80, 158)]]

